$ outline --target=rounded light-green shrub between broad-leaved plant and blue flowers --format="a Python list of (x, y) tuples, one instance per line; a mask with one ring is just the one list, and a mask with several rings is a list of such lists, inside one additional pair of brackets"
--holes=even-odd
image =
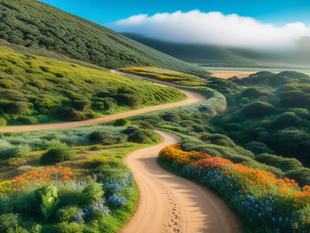
[(85, 207), (92, 203), (101, 203), (103, 194), (104, 191), (102, 189), (102, 185), (96, 182), (90, 183), (86, 185), (80, 194), (79, 204), (80, 206)]

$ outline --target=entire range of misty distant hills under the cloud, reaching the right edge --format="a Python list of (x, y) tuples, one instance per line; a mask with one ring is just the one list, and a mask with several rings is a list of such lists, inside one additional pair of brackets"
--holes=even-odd
[[(294, 53), (290, 51), (256, 51), (242, 48), (225, 48), (217, 45), (166, 42), (128, 32), (121, 34), (172, 57), (176, 57), (182, 61), (197, 64), (199, 66), (285, 69), (298, 69), (308, 66), (307, 62), (304, 62), (307, 61), (305, 60), (305, 57), (307, 56), (301, 56), (301, 49), (294, 50)], [(302, 67), (300, 65), (302, 65)]]

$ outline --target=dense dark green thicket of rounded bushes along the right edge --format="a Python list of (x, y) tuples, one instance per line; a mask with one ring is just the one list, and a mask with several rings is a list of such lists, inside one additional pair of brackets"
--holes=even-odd
[(310, 167), (309, 76), (262, 71), (230, 80), (243, 87), (224, 93), (228, 111), (210, 123), (252, 151), (255, 161), (281, 169), (300, 185), (310, 185), (310, 169), (306, 168)]

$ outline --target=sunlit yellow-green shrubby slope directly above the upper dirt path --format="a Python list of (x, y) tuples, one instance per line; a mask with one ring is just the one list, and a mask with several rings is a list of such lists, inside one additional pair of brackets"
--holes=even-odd
[(0, 124), (81, 121), (185, 98), (176, 89), (0, 48)]

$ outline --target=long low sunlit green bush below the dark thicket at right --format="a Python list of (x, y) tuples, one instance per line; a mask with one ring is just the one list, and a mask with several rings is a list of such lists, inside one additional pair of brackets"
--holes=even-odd
[(277, 155), (267, 153), (259, 154), (254, 157), (255, 161), (267, 164), (269, 166), (278, 167), (282, 171), (298, 170), (302, 168), (301, 162), (295, 158), (283, 158)]

